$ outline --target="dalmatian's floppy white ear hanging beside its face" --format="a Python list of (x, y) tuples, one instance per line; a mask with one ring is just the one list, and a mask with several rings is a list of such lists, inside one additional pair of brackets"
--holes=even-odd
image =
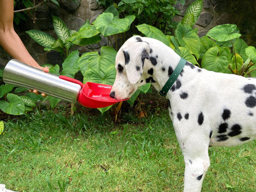
[(126, 74), (130, 84), (136, 84), (142, 76), (145, 59), (150, 59), (146, 49), (136, 52), (134, 58), (126, 64)]

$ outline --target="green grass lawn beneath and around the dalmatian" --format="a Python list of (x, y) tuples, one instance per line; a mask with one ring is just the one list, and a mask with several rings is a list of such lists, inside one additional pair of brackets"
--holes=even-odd
[[(119, 123), (110, 112), (68, 117), (64, 110), (5, 122), (0, 183), (19, 192), (183, 190), (183, 156), (167, 110), (142, 119), (123, 112)], [(256, 191), (255, 148), (255, 141), (210, 148), (202, 191)]]

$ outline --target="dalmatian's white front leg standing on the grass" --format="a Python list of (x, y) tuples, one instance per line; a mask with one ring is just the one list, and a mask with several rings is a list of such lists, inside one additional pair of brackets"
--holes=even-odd
[[(180, 132), (178, 131), (180, 130)], [(185, 161), (184, 192), (200, 192), (202, 181), (210, 166), (208, 154), (209, 135), (204, 127), (182, 126), (175, 129), (180, 148)]]

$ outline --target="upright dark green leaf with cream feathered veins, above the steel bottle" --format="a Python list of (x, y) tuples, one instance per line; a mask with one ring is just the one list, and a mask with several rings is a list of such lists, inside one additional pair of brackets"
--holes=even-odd
[(52, 16), (54, 22), (54, 30), (58, 38), (62, 40), (63, 44), (70, 37), (70, 30), (66, 24), (58, 17)]

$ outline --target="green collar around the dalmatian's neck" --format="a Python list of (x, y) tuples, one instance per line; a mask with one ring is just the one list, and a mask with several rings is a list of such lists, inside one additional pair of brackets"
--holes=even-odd
[(185, 66), (185, 64), (186, 64), (186, 60), (184, 58), (180, 58), (180, 62), (178, 62), (178, 65), (176, 66), (174, 72), (172, 72), (172, 74), (170, 75), (170, 78), (168, 79), (168, 81), (166, 82), (164, 87), (162, 87), (162, 90), (159, 91), (160, 95), (162, 95), (164, 97), (166, 96), (170, 87), (172, 87), (172, 85), (174, 84), (174, 82), (178, 78), (178, 75), (182, 72), (183, 67)]

